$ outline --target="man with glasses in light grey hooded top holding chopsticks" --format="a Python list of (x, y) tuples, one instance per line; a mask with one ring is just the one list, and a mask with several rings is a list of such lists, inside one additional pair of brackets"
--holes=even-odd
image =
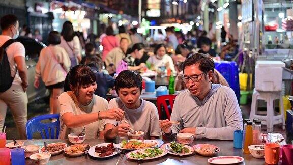
[(182, 63), (182, 80), (188, 90), (174, 102), (170, 121), (160, 121), (163, 134), (192, 133), (198, 139), (232, 140), (242, 129), (241, 110), (234, 91), (212, 84), (214, 61), (205, 54), (193, 54)]

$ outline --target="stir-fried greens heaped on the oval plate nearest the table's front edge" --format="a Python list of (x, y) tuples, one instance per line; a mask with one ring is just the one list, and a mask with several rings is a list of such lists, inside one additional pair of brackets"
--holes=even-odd
[(137, 152), (131, 152), (130, 153), (130, 157), (139, 159), (139, 158), (151, 158), (151, 157), (155, 157), (158, 155), (161, 155), (164, 151), (161, 150), (158, 147), (155, 148), (147, 148), (143, 150), (144, 152), (141, 151), (137, 151)]

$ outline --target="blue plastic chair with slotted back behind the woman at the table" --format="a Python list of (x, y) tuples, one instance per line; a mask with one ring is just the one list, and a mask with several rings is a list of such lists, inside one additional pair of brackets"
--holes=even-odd
[[(56, 118), (57, 121), (53, 123), (41, 122), (42, 120), (52, 119), (52, 118)], [(54, 133), (55, 128), (56, 128), (56, 134)], [(47, 114), (47, 115), (36, 116), (28, 120), (26, 123), (27, 139), (33, 139), (33, 133), (35, 132), (39, 132), (42, 136), (42, 139), (58, 139), (59, 129), (60, 129), (59, 114)], [(49, 132), (51, 136), (49, 136)]]

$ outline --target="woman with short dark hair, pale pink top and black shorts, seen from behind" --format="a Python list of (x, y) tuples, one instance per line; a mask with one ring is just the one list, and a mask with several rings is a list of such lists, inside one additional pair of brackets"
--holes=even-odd
[(48, 36), (49, 46), (43, 48), (36, 66), (35, 88), (40, 86), (40, 77), (50, 90), (50, 113), (59, 113), (58, 97), (63, 92), (66, 74), (70, 69), (70, 59), (67, 52), (61, 47), (60, 34), (52, 31)]

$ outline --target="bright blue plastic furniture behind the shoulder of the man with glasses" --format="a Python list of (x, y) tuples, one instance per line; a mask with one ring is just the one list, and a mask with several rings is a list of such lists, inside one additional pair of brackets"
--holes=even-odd
[(237, 63), (234, 61), (215, 62), (215, 69), (217, 69), (228, 81), (230, 88), (236, 94), (238, 102), (240, 101), (240, 86), (239, 86), (239, 71)]

